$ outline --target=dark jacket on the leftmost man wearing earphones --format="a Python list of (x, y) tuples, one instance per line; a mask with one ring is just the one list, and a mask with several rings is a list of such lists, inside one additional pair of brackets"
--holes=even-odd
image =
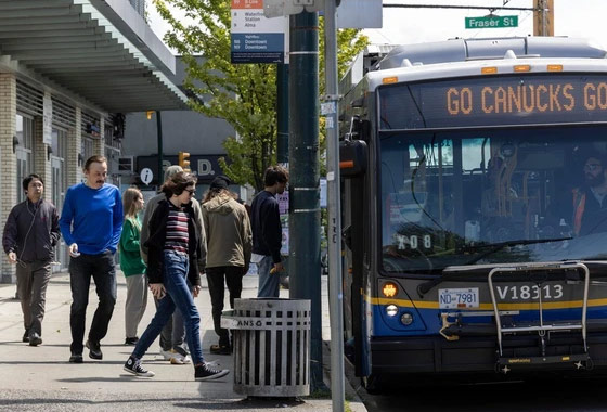
[(52, 260), (60, 236), (55, 205), (44, 199), (34, 205), (25, 199), (7, 218), (2, 246), (4, 253), (14, 252), (22, 261)]

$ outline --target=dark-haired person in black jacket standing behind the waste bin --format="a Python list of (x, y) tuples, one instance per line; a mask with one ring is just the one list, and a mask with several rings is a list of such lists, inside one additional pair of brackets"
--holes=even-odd
[(282, 194), (288, 182), (288, 171), (271, 166), (263, 175), (263, 191), (251, 204), (253, 257), (259, 273), (257, 297), (279, 297), (280, 272), (284, 270), (281, 259), (283, 231), (276, 193)]

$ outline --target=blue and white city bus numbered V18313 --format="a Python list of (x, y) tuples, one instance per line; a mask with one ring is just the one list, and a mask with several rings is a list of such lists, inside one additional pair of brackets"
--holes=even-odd
[(607, 366), (606, 55), (453, 39), (341, 81), (344, 337), (370, 390)]

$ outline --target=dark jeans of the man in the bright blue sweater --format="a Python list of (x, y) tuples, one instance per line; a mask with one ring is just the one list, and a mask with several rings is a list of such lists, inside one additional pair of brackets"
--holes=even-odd
[(72, 329), (73, 353), (82, 353), (87, 306), (89, 305), (89, 287), (91, 275), (96, 286), (99, 306), (93, 316), (89, 331), (89, 339), (100, 342), (107, 334), (107, 325), (116, 305), (116, 269), (114, 255), (105, 250), (100, 255), (81, 254), (69, 259), (69, 286), (72, 287), (72, 307), (69, 326)]

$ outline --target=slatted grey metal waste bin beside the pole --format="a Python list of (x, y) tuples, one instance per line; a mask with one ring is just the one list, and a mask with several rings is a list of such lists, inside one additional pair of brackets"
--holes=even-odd
[(221, 316), (221, 327), (232, 330), (234, 391), (309, 395), (310, 318), (308, 299), (235, 299)]

